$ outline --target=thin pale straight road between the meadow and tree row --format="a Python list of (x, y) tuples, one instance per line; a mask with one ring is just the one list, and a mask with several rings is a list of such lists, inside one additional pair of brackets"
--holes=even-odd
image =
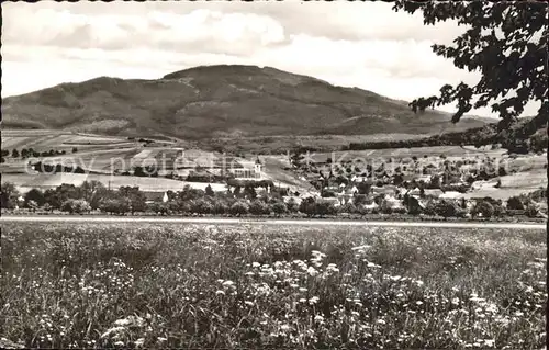
[(215, 217), (93, 217), (93, 216), (2, 216), (2, 222), (23, 223), (169, 223), (169, 224), (217, 224), (217, 225), (306, 225), (306, 226), (362, 226), (362, 227), (446, 227), (446, 228), (500, 228), (500, 229), (546, 229), (546, 224), (515, 223), (468, 223), (468, 222), (371, 222), (333, 219), (243, 219)]

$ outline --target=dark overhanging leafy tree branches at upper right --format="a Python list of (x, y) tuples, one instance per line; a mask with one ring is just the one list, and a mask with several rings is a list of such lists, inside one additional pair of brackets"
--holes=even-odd
[[(446, 84), (437, 97), (419, 98), (410, 105), (414, 112), (435, 105), (458, 103), (452, 116), (457, 123), (463, 114), (491, 104), (506, 128), (524, 112), (529, 101), (539, 101), (538, 125), (547, 123), (547, 42), (548, 8), (541, 1), (397, 1), (395, 11), (421, 10), (424, 24), (456, 20), (468, 30), (452, 46), (433, 45), (438, 56), (453, 59), (453, 65), (480, 71), (482, 78), (470, 87), (463, 82)], [(501, 102), (495, 102), (501, 99)]]

